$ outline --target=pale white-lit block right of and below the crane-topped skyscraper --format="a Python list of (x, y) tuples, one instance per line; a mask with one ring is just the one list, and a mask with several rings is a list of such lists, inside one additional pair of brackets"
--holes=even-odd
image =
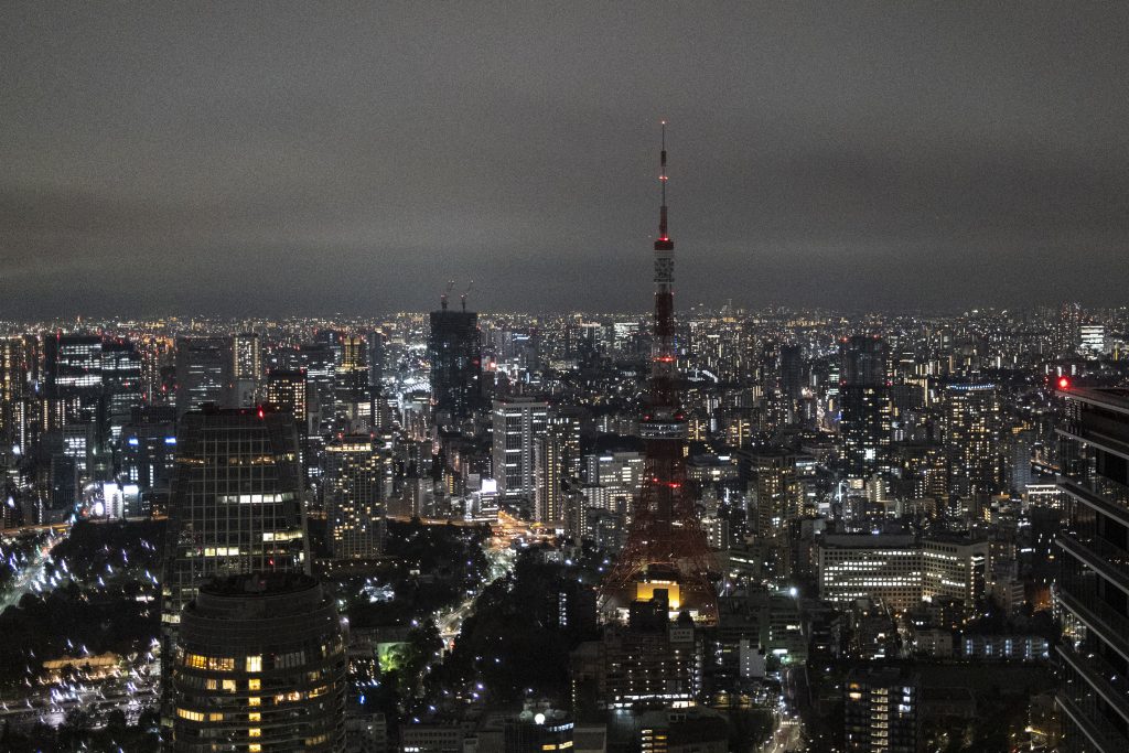
[(545, 435), (549, 404), (532, 397), (493, 403), (493, 474), (502, 499), (533, 501), (536, 490), (534, 447)]

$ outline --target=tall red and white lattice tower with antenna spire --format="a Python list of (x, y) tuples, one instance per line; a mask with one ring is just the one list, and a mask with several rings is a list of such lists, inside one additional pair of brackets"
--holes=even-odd
[[(605, 612), (624, 607), (640, 583), (677, 584), (679, 608), (716, 622), (717, 594), (710, 583), (712, 557), (686, 488), (686, 417), (679, 395), (674, 349), (674, 242), (667, 231), (666, 123), (663, 123), (658, 238), (655, 240), (655, 329), (649, 397), (639, 421), (646, 445), (642, 491), (636, 500), (627, 544), (604, 580)], [(672, 606), (675, 606), (672, 603)]]

